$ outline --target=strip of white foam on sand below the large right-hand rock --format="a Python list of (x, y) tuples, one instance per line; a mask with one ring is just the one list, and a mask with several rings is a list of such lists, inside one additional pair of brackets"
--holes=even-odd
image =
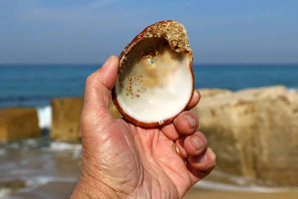
[(258, 192), (258, 193), (277, 193), (277, 192), (289, 192), (298, 191), (298, 188), (282, 187), (282, 188), (268, 188), (261, 187), (257, 185), (250, 185), (247, 187), (216, 183), (211, 181), (202, 180), (198, 182), (194, 187), (207, 189), (207, 190), (217, 190), (217, 191), (232, 191), (232, 192)]

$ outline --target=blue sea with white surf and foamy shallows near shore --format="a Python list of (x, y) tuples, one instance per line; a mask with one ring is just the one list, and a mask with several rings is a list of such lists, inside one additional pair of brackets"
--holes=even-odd
[[(51, 99), (82, 96), (86, 78), (100, 67), (101, 64), (0, 65), (0, 108), (34, 107), (38, 111), (40, 128), (49, 129)], [(194, 65), (193, 70), (197, 89), (237, 91), (283, 85), (290, 91), (298, 91), (298, 64), (200, 64)], [(62, 198), (71, 193), (78, 178), (80, 156), (79, 144), (53, 142), (46, 130), (41, 138), (0, 143), (0, 198)], [(218, 180), (203, 180), (196, 186), (245, 192), (291, 189), (220, 172), (214, 172), (211, 179), (214, 178)]]

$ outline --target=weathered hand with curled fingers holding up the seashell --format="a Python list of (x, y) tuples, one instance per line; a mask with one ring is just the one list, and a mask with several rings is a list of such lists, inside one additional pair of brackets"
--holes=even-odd
[[(111, 56), (86, 80), (81, 114), (81, 173), (72, 199), (181, 199), (216, 165), (206, 137), (196, 131), (199, 121), (182, 112), (172, 123), (143, 128), (109, 111), (119, 61)], [(200, 100), (195, 92), (187, 107)], [(174, 141), (184, 158), (175, 151)]]

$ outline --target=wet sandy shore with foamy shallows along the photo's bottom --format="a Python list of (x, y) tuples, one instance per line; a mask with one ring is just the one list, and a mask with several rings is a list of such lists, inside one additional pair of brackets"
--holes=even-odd
[[(36, 140), (36, 144), (40, 143)], [(35, 142), (30, 141), (30, 147), (1, 150), (0, 199), (68, 199), (78, 180), (81, 146), (51, 142), (35, 148), (32, 144)], [(298, 191), (214, 171), (189, 190), (184, 199), (265, 197), (298, 199)]]

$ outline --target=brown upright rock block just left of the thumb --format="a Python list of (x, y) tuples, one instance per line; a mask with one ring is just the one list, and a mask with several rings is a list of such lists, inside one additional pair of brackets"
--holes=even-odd
[(52, 100), (53, 140), (74, 142), (81, 137), (80, 115), (83, 107), (82, 98), (57, 98)]

